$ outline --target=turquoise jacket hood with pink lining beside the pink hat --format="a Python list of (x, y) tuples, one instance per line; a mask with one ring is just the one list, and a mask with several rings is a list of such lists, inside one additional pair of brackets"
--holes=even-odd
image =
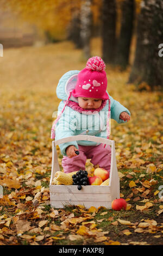
[[(79, 70), (70, 70), (60, 78), (56, 90), (57, 97), (60, 100), (67, 100), (70, 92), (72, 92), (72, 90), (76, 86), (79, 72)], [(78, 102), (78, 98), (73, 97), (72, 95), (70, 97), (70, 100)]]

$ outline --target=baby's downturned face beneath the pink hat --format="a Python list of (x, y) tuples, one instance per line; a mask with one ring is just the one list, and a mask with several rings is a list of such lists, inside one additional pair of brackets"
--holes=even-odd
[(78, 97), (79, 106), (83, 109), (96, 109), (102, 104), (101, 99)]

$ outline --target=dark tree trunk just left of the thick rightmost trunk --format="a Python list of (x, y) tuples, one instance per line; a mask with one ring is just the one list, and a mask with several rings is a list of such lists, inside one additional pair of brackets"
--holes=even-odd
[(124, 70), (129, 63), (130, 43), (133, 35), (134, 0), (123, 0), (121, 31), (117, 42), (115, 63)]

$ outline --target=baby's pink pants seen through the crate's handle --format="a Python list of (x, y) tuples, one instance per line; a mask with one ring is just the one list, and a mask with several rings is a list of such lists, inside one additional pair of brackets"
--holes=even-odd
[(99, 167), (108, 170), (110, 173), (111, 148), (109, 145), (99, 144), (98, 146), (82, 146), (79, 147), (79, 155), (62, 158), (62, 167), (65, 173), (76, 172), (77, 170), (85, 170), (86, 159), (91, 159), (93, 165), (99, 164)]

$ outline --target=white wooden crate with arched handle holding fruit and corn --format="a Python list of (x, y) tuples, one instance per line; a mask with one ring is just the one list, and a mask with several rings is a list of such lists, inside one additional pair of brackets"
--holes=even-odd
[[(70, 141), (93, 141), (111, 146), (111, 167), (109, 186), (82, 186), (78, 190), (77, 186), (52, 185), (55, 172), (60, 170), (56, 146)], [(64, 208), (65, 205), (84, 205), (86, 209), (91, 206), (98, 208), (104, 206), (111, 209), (111, 202), (120, 198), (120, 179), (117, 172), (115, 142), (110, 139), (98, 138), (89, 135), (71, 136), (52, 142), (52, 172), (49, 184), (51, 206), (53, 208)]]

